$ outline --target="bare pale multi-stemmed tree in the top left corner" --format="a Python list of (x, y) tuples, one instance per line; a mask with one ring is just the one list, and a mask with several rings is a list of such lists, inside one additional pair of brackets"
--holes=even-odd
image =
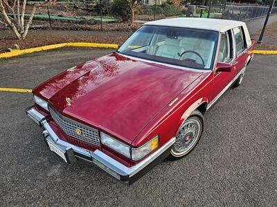
[[(21, 3), (20, 0), (0, 0), (0, 23), (10, 27), (17, 39), (23, 40), (26, 38), (28, 29), (32, 24), (36, 8), (39, 6), (49, 6), (55, 3), (55, 0), (46, 0), (42, 3), (34, 4), (30, 17), (27, 23), (25, 23), (26, 1), (27, 0), (23, 0), (23, 3)], [(12, 15), (8, 15), (7, 12), (12, 12)]]

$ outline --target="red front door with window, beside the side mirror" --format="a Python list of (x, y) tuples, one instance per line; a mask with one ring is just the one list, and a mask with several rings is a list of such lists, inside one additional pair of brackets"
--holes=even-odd
[[(218, 50), (217, 62), (233, 63), (235, 52), (232, 30), (228, 30), (220, 35), (220, 47)], [(216, 101), (235, 76), (234, 69), (231, 72), (215, 72), (214, 68), (213, 76), (212, 100)]]

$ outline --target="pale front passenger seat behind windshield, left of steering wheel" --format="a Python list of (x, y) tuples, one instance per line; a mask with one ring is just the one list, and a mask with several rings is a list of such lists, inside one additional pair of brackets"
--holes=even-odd
[(179, 59), (178, 53), (181, 53), (180, 40), (167, 37), (165, 42), (157, 48), (155, 55), (171, 59)]

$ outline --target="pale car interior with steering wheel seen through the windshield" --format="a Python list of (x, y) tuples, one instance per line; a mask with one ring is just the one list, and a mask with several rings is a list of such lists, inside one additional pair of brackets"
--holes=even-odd
[[(150, 42), (149, 42), (150, 41)], [(209, 68), (213, 56), (215, 41), (185, 35), (154, 34), (146, 46), (132, 46), (132, 52), (178, 59), (190, 63), (190, 66)]]

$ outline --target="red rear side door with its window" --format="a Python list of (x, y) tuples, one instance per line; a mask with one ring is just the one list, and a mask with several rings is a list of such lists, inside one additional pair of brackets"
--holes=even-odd
[(242, 27), (233, 28), (233, 37), (235, 41), (235, 60), (233, 61), (233, 69), (234, 75), (236, 76), (245, 66), (247, 66), (247, 58), (249, 54)]

